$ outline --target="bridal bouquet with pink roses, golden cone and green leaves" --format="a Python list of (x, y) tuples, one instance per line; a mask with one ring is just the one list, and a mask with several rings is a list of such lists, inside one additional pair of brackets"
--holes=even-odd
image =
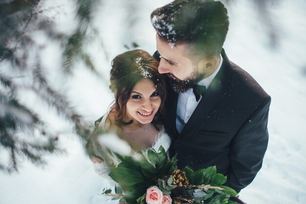
[(122, 162), (109, 176), (119, 186), (103, 194), (119, 204), (236, 204), (236, 191), (222, 185), (226, 177), (215, 166), (196, 172), (190, 166), (177, 169), (176, 155), (169, 161), (162, 146), (158, 152), (148, 150), (149, 161), (117, 156)]

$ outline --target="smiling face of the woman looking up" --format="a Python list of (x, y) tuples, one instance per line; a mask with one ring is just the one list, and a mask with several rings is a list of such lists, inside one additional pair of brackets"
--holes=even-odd
[(141, 124), (151, 123), (158, 111), (161, 98), (155, 85), (150, 79), (142, 79), (131, 91), (127, 102), (127, 114), (129, 120), (136, 120)]

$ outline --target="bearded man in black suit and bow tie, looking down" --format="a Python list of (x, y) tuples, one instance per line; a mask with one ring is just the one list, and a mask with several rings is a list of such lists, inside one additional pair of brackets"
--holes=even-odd
[(164, 126), (178, 168), (217, 166), (237, 192), (262, 167), (271, 97), (222, 48), (227, 10), (214, 0), (175, 0), (151, 14), (154, 57), (167, 76)]

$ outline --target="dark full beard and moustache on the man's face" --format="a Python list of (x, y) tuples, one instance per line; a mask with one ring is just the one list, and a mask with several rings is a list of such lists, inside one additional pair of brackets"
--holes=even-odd
[(168, 78), (169, 86), (176, 93), (184, 93), (189, 89), (193, 88), (199, 81), (204, 79), (205, 73), (198, 74), (193, 72), (190, 77), (185, 80), (180, 80), (176, 78), (173, 74), (167, 73), (166, 77)]

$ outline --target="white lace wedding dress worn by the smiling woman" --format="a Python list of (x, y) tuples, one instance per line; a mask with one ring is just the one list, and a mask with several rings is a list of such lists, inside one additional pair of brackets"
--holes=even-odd
[[(106, 117), (103, 117), (103, 119), (101, 120), (99, 124), (99, 128), (101, 127), (105, 128), (105, 130), (109, 128), (109, 126), (106, 125)], [(116, 136), (110, 135), (109, 138), (106, 138), (109, 141), (113, 141), (110, 143), (116, 143), (114, 145), (117, 145), (117, 146), (122, 145), (122, 144), (118, 144), (120, 143), (118, 139), (112, 140), (113, 138), (111, 137), (116, 137)], [(153, 148), (157, 152), (159, 147), (162, 145), (165, 151), (168, 153), (170, 144), (171, 144), (171, 138), (165, 133), (165, 130), (162, 127), (161, 131), (159, 131), (159, 133), (155, 136), (155, 141), (151, 148)], [(94, 163), (94, 169), (99, 175), (109, 178), (108, 176), (109, 172), (114, 167), (116, 167), (121, 162), (121, 160), (112, 151), (109, 150), (109, 146), (108, 148), (106, 148), (106, 146), (108, 145), (101, 145), (101, 140), (99, 139), (95, 139), (95, 141), (92, 143), (94, 154), (104, 159), (104, 161), (101, 163)], [(131, 147), (129, 146), (129, 148)], [(148, 159), (148, 149), (143, 150), (142, 153), (146, 157), (146, 159)]]

